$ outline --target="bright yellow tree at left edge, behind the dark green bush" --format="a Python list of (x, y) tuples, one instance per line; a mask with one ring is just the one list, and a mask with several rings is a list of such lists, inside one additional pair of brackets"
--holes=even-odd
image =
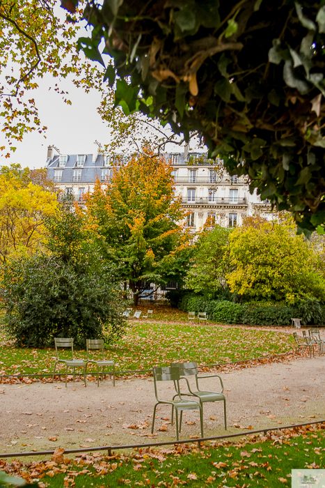
[(56, 210), (54, 192), (44, 189), (47, 183), (38, 174), (41, 184), (35, 184), (35, 172), (18, 165), (1, 169), (0, 174), (0, 262), (19, 254), (31, 254), (45, 238), (44, 218)]

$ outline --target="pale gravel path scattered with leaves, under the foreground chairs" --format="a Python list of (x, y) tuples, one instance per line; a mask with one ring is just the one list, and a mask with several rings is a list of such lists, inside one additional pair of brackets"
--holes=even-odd
[[(227, 434), (325, 418), (325, 355), (224, 371), (221, 376)], [(219, 391), (218, 381), (205, 379), (202, 386)], [(173, 385), (159, 383), (159, 395), (171, 399)], [(115, 388), (109, 379), (100, 388), (95, 381), (86, 388), (82, 381), (70, 381), (68, 388), (64, 382), (3, 384), (0, 453), (145, 443), (151, 439), (154, 403), (152, 378), (117, 380)], [(205, 403), (203, 415), (205, 436), (225, 433), (222, 402)], [(198, 411), (185, 412), (183, 419), (180, 439), (199, 436)], [(170, 406), (157, 409), (153, 438), (175, 439)]]

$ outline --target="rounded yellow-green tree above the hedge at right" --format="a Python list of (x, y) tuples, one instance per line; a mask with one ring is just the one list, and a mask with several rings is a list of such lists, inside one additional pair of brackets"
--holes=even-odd
[(325, 300), (325, 282), (315, 271), (317, 255), (295, 224), (287, 218), (263, 222), (252, 219), (229, 236), (227, 276), (232, 292), (251, 298), (294, 303), (299, 299)]

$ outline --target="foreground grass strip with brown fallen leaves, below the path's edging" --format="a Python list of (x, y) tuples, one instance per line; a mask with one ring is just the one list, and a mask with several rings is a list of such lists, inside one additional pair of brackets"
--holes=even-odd
[[(142, 487), (284, 487), (291, 485), (291, 470), (324, 468), (325, 425), (273, 432), (266, 437), (232, 443), (167, 446), (95, 452), (77, 459), (12, 465), (0, 460), (0, 470), (40, 481), (40, 488)], [(312, 474), (312, 471), (310, 471)]]

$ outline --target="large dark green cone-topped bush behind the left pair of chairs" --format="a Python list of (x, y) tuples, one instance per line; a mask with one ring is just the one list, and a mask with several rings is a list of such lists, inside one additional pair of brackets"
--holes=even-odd
[(125, 330), (116, 270), (102, 259), (68, 200), (46, 222), (46, 252), (13, 260), (1, 277), (3, 323), (19, 346), (116, 340)]

